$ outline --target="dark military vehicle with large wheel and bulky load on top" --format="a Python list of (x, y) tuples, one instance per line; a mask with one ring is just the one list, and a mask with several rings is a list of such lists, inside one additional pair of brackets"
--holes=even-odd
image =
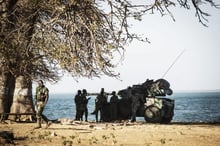
[[(165, 79), (156, 81), (147, 79), (142, 84), (129, 87), (135, 95), (141, 95), (144, 102), (141, 102), (136, 112), (136, 117), (144, 117), (146, 122), (150, 123), (169, 123), (174, 115), (174, 100), (165, 98), (166, 95), (172, 95), (173, 91), (170, 84)], [(120, 97), (118, 102), (118, 120), (131, 119), (132, 103), (128, 96), (128, 88), (118, 91)], [(103, 121), (111, 121), (110, 105), (105, 105), (105, 117)]]

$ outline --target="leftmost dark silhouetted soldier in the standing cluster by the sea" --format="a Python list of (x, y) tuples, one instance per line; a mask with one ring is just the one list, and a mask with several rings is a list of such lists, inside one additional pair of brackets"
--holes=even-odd
[(79, 121), (81, 120), (82, 118), (82, 111), (81, 111), (81, 107), (80, 107), (80, 104), (82, 102), (82, 92), (81, 90), (78, 90), (77, 91), (77, 94), (75, 96), (75, 105), (76, 105), (76, 116), (75, 116), (75, 120)]

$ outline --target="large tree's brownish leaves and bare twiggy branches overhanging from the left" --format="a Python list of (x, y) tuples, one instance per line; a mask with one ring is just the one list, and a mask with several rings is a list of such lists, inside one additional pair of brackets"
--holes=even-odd
[(17, 81), (29, 91), (33, 80), (57, 81), (65, 72), (76, 79), (118, 77), (113, 71), (116, 53), (120, 60), (127, 43), (148, 41), (130, 32), (131, 18), (141, 20), (145, 14), (159, 12), (174, 19), (170, 7), (193, 6), (206, 26), (209, 14), (201, 9), (203, 3), (218, 8), (213, 0), (0, 0), (0, 112), (10, 110), (8, 89), (12, 94), (18, 91)]

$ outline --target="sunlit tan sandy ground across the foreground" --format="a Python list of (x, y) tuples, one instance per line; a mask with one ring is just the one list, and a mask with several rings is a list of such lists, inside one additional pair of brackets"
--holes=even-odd
[[(14, 134), (14, 144), (33, 146), (219, 146), (219, 124), (150, 124), (144, 122), (52, 123), (34, 129), (35, 123), (0, 124), (0, 131)], [(45, 126), (45, 125), (43, 125)], [(0, 144), (1, 145), (1, 144)]]

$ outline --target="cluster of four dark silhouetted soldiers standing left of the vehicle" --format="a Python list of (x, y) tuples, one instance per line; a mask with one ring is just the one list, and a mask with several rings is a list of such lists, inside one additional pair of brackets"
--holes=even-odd
[[(76, 105), (76, 116), (75, 120), (78, 121), (83, 121), (83, 115), (85, 115), (85, 121), (88, 120), (88, 101), (90, 98), (86, 98), (88, 95), (86, 89), (78, 90), (77, 94), (75, 95), (74, 101)], [(94, 94), (89, 94), (89, 95), (94, 95)], [(108, 95), (105, 93), (104, 88), (101, 88), (100, 93), (97, 95), (95, 99), (95, 109), (91, 114), (95, 115), (96, 122), (101, 122), (103, 119), (105, 119), (105, 111), (104, 107), (107, 104), (108, 100)], [(110, 119), (112, 121), (117, 120), (117, 103), (118, 103), (118, 96), (116, 95), (116, 92), (113, 91), (111, 93), (111, 98), (110, 98)], [(99, 118), (99, 113), (100, 113), (100, 118)]]

